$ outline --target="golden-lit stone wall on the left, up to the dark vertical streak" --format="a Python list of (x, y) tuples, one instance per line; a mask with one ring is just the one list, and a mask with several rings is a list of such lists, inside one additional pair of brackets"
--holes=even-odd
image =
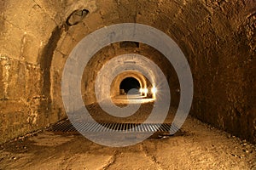
[(49, 64), (44, 60), (49, 58), (45, 47), (51, 44), (55, 20), (33, 1), (1, 1), (0, 11), (2, 143), (48, 126), (60, 117), (51, 111), (49, 68), (46, 68)]

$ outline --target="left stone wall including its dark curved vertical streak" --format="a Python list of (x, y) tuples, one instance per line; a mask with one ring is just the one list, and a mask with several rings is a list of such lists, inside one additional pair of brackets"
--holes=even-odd
[(84, 6), (93, 12), (95, 1), (0, 1), (0, 143), (66, 116), (53, 56), (67, 17)]

